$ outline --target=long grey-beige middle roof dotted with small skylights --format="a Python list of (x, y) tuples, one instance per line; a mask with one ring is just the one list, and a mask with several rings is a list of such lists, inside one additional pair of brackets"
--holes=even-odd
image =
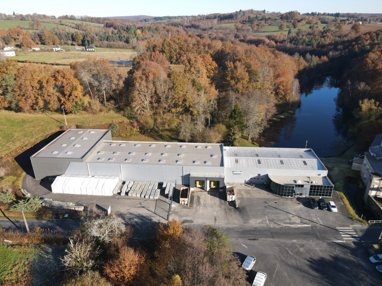
[[(98, 152), (103, 153), (100, 155)], [(99, 157), (113, 163), (176, 165), (179, 164), (178, 161), (181, 161), (182, 165), (223, 166), (223, 145), (103, 141), (85, 161), (97, 162)]]

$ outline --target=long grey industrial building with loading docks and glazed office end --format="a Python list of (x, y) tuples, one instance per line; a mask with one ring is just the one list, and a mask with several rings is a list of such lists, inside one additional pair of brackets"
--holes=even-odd
[[(288, 197), (330, 197), (333, 191), (328, 170), (311, 149), (113, 141), (110, 130), (69, 129), (32, 155), (31, 162), (36, 179), (65, 175), (66, 193), (111, 195), (116, 178), (207, 191), (230, 183), (266, 183)], [(82, 187), (67, 187), (79, 183)]]

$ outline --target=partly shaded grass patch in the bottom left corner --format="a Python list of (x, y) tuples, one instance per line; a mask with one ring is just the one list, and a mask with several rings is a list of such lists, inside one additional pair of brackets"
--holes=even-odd
[(63, 255), (64, 249), (58, 245), (0, 244), (0, 284), (51, 284), (61, 273), (60, 256)]

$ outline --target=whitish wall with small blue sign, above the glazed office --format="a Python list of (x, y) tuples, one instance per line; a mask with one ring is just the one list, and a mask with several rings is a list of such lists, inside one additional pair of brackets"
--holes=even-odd
[[(241, 171), (241, 175), (233, 175), (234, 171)], [(287, 170), (287, 169), (256, 169), (256, 168), (224, 168), (224, 176), (226, 183), (244, 183), (245, 181), (252, 182), (251, 178), (261, 175), (261, 182), (267, 182), (268, 175), (275, 176), (321, 176), (328, 175), (327, 170)], [(255, 183), (255, 181), (254, 181)]]

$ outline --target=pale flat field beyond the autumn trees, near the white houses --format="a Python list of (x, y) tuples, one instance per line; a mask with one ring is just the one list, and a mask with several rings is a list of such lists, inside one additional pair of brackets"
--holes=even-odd
[[(98, 51), (98, 48), (96, 48)], [(102, 48), (100, 48), (102, 50)], [(106, 59), (110, 61), (132, 61), (137, 52), (125, 49), (103, 49), (104, 51), (16, 51), (16, 56), (12, 59), (16, 61), (29, 61), (42, 64), (69, 65), (71, 62), (83, 61), (90, 58)]]

